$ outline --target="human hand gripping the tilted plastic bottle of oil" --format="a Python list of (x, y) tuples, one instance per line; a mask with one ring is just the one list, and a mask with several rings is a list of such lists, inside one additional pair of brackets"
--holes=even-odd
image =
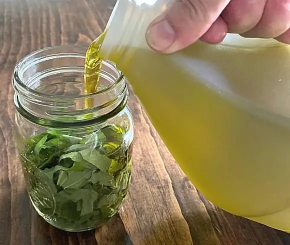
[(172, 53), (198, 39), (221, 42), (227, 32), (290, 44), (290, 0), (175, 0), (150, 23), (146, 40)]

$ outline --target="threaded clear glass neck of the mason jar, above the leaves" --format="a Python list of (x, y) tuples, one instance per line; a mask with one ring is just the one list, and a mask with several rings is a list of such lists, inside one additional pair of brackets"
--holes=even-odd
[[(104, 86), (100, 90), (88, 94), (71, 95), (65, 92), (54, 93), (45, 89), (46, 84), (63, 81), (65, 76), (76, 75), (77, 83), (83, 83), (84, 58), (87, 47), (80, 45), (59, 45), (38, 49), (24, 56), (15, 65), (12, 86), (14, 88), (14, 104), (17, 111), (26, 119), (43, 126), (75, 127), (87, 126), (106, 121), (120, 112), (127, 104), (127, 81), (116, 65), (104, 60), (100, 77)], [(44, 83), (41, 84), (41, 81)], [(51, 82), (52, 81), (52, 82)], [(42, 86), (43, 85), (43, 86)], [(69, 88), (70, 86), (67, 86)], [(85, 87), (75, 86), (74, 91), (84, 91)], [(70, 87), (71, 88), (71, 87)], [(52, 91), (53, 93), (49, 93)], [(65, 91), (65, 88), (64, 88)], [(88, 99), (88, 100), (86, 100)], [(91, 106), (86, 106), (92, 101)]]

